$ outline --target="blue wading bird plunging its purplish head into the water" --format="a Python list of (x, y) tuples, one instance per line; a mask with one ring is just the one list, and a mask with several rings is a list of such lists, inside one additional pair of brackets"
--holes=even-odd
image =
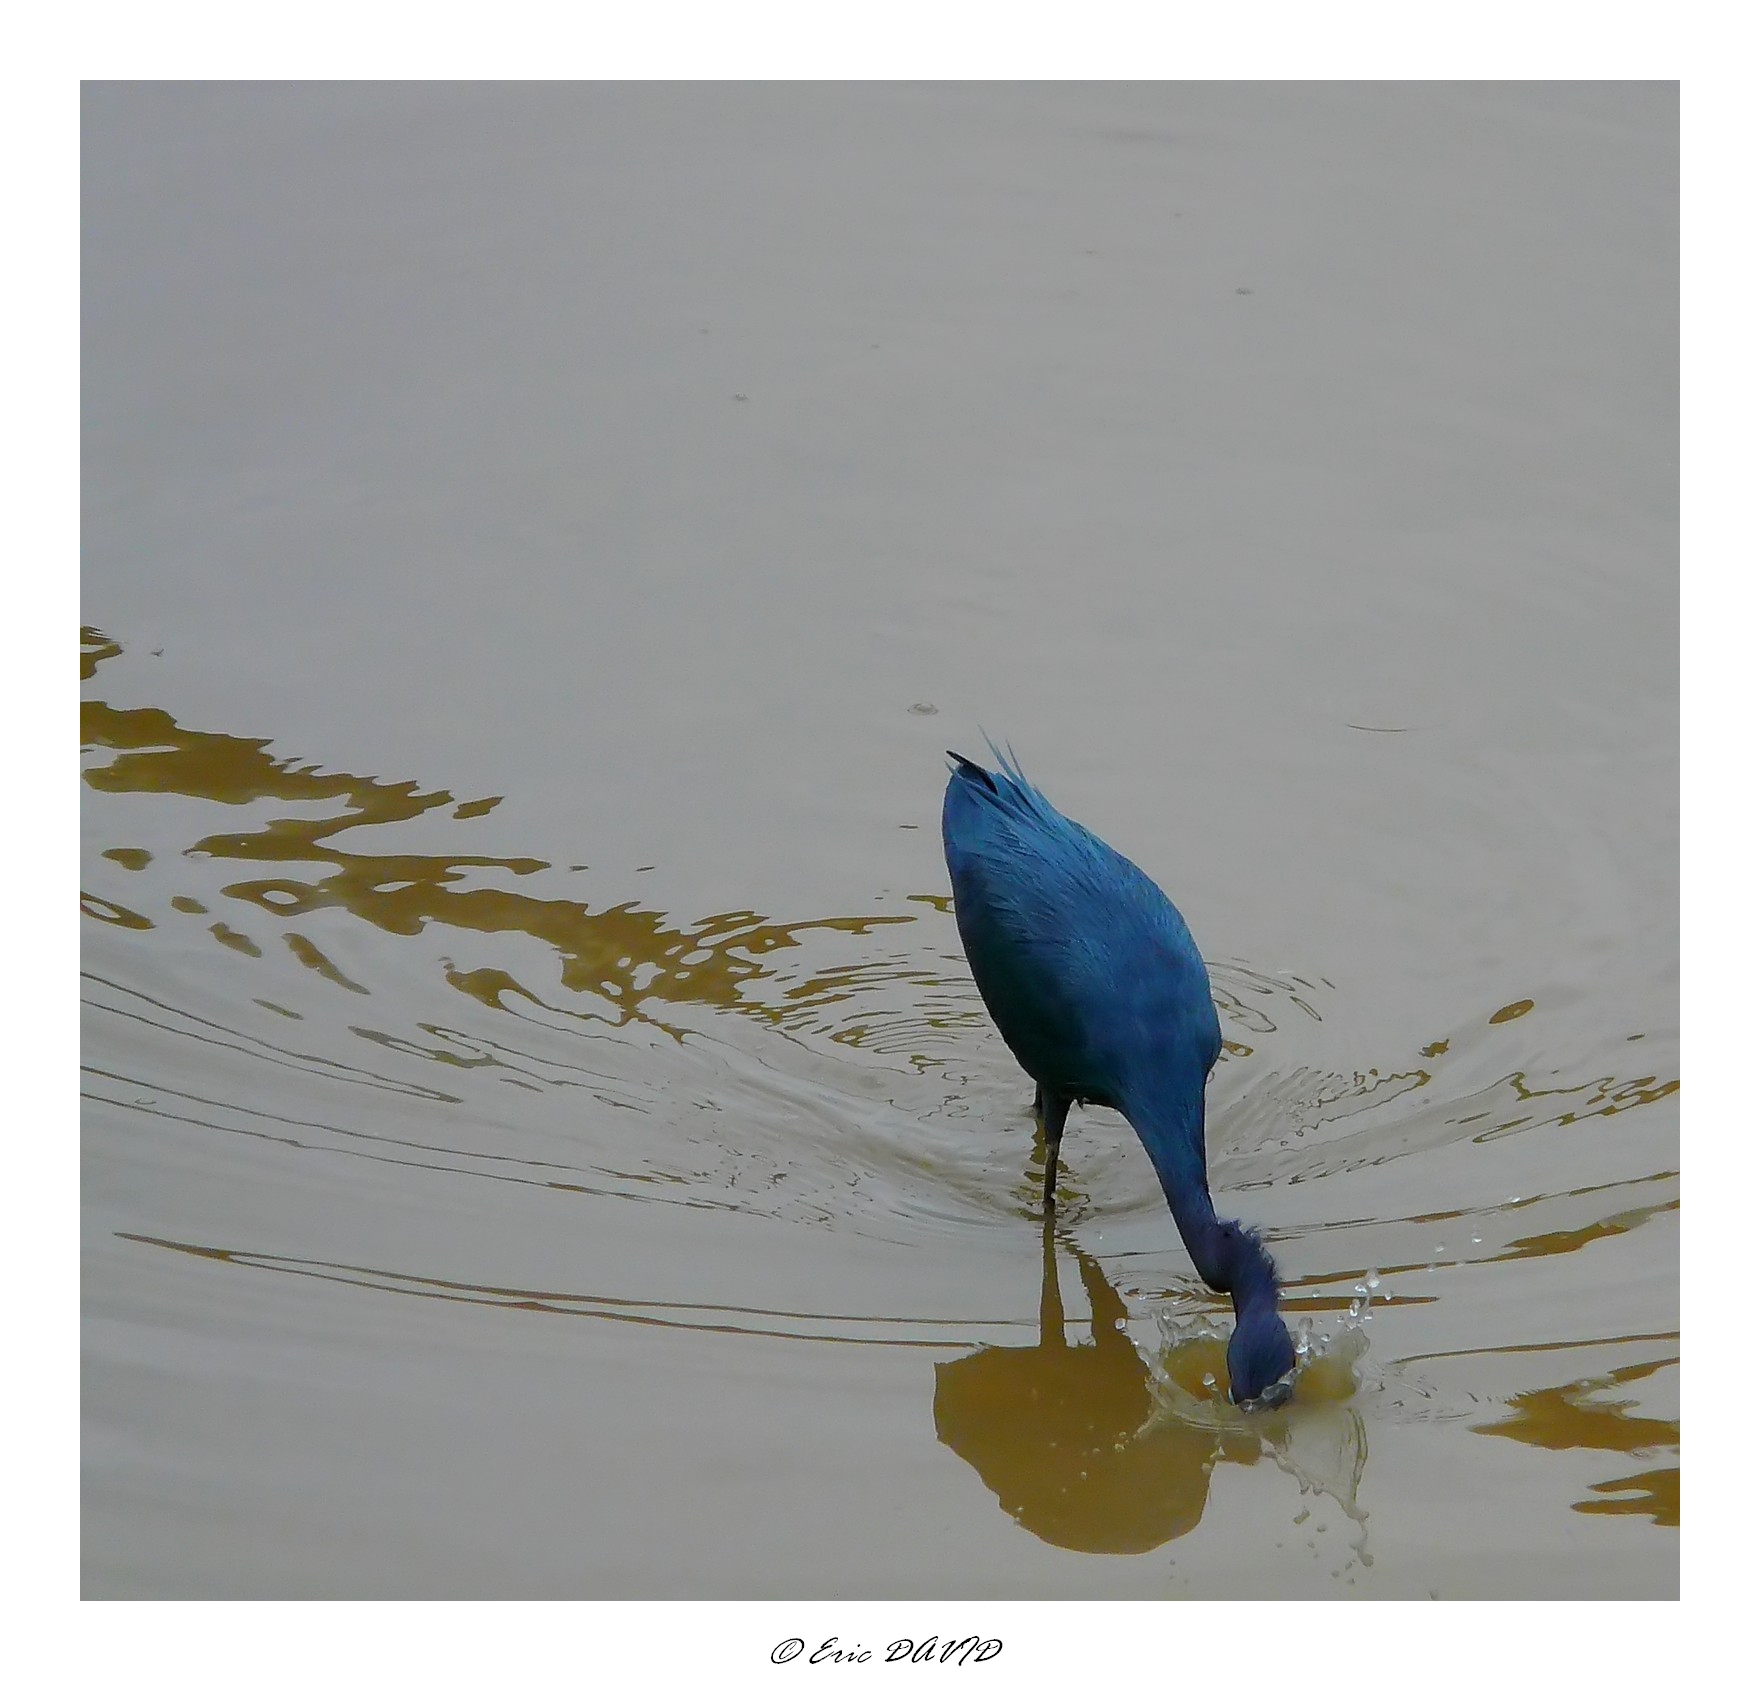
[(1056, 1190), (1072, 1102), (1118, 1109), (1142, 1139), (1199, 1274), (1234, 1299), (1228, 1382), (1276, 1403), (1295, 1366), (1278, 1274), (1258, 1237), (1218, 1220), (1204, 1081), (1221, 1051), (1209, 975), (1184, 917), (1130, 859), (1058, 811), (1005, 755), (954, 759), (942, 841), (954, 917), (991, 1019), (1038, 1086)]

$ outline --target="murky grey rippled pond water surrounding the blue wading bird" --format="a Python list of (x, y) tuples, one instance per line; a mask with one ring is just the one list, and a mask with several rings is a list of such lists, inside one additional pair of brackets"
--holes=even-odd
[[(1672, 1595), (1668, 88), (86, 95), (92, 1595)], [(1155, 875), (1327, 1352), (1054, 1230)], [(1373, 1274), (1373, 1278), (1371, 1278)]]

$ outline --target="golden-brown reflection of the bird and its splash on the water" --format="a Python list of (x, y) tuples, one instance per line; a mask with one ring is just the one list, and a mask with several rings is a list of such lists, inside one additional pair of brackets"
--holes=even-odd
[[(1040, 1540), (1072, 1553), (1149, 1553), (1197, 1528), (1218, 1463), (1269, 1459), (1306, 1494), (1355, 1507), (1368, 1440), (1352, 1406), (1243, 1415), (1206, 1399), (1204, 1371), (1221, 1345), (1186, 1345), (1156, 1373), (1125, 1332), (1126, 1308), (1100, 1264), (1065, 1246), (1088, 1296), (1088, 1340), (1070, 1341), (1056, 1236), (1044, 1229), (1038, 1343), (980, 1348), (935, 1368), (935, 1433), (1001, 1508)], [(1179, 1405), (1167, 1405), (1177, 1392)], [(1362, 1545), (1357, 1556), (1368, 1563)]]

